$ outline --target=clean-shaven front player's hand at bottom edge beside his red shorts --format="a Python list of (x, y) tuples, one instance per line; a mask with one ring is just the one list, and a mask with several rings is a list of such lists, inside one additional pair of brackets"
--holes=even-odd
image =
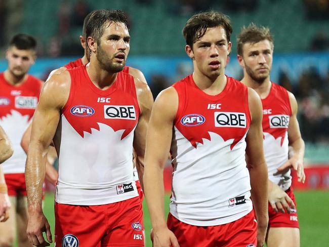
[(179, 247), (175, 234), (167, 226), (159, 228), (156, 231), (152, 229), (151, 240), (153, 247)]

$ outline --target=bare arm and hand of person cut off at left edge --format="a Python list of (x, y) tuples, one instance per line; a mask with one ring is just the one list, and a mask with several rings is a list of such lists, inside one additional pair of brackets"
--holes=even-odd
[[(2, 164), (13, 155), (13, 147), (3, 128), (0, 126), (0, 222), (5, 222), (9, 218), (10, 200), (5, 176), (2, 171)], [(4, 245), (0, 242), (0, 244)], [(7, 245), (8, 246), (8, 245)]]

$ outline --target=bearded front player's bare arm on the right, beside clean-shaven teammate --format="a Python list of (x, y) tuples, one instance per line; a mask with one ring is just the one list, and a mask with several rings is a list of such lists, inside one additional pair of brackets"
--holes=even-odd
[(145, 163), (144, 158), (146, 146), (146, 132), (153, 106), (153, 96), (147, 84), (145, 84), (138, 78), (135, 78), (135, 86), (138, 104), (141, 109), (141, 115), (139, 117), (137, 127), (135, 129), (133, 145), (134, 150), (136, 152), (136, 168), (138, 171), (139, 181), (141, 183), (142, 188), (144, 188), (143, 173)]

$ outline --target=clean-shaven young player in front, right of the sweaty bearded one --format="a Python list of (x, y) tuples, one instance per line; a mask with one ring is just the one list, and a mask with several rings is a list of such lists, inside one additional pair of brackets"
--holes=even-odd
[[(262, 105), (253, 89), (224, 74), (231, 33), (223, 14), (192, 16), (183, 34), (194, 72), (155, 100), (144, 175), (153, 246), (264, 243), (268, 178)], [(174, 172), (166, 224), (162, 174), (169, 150)]]

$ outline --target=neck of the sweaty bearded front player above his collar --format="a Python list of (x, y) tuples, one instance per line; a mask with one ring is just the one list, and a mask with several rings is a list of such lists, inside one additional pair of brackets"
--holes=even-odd
[(100, 68), (97, 63), (92, 62), (87, 65), (87, 73), (93, 84), (101, 90), (111, 87), (117, 77), (117, 73), (109, 73)]

